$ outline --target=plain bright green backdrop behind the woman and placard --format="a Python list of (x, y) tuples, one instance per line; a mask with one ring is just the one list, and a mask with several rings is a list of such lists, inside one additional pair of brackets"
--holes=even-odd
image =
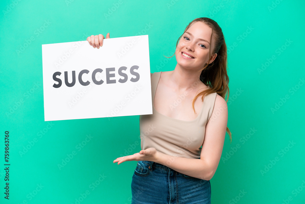
[[(45, 122), (41, 45), (140, 32), (149, 35), (151, 72), (170, 71), (176, 59), (166, 61), (163, 55), (171, 56), (178, 37), (196, 17), (215, 20), (228, 46), (232, 143), (226, 134), (210, 180), (212, 203), (305, 203), (304, 1), (122, 0), (115, 8), (116, 3), (1, 1), (0, 203), (70, 204), (85, 191), (90, 194), (82, 204), (131, 203), (137, 161), (117, 165), (113, 160), (141, 150), (139, 116)], [(45, 21), (49, 25), (41, 28)], [(145, 30), (146, 24), (151, 28)], [(285, 45), (287, 40), (291, 43)], [(10, 139), (9, 200), (4, 199), (2, 170), (5, 131)], [(78, 151), (86, 135), (92, 138)], [(73, 151), (77, 154), (59, 169)], [(102, 182), (92, 189), (100, 174)]]

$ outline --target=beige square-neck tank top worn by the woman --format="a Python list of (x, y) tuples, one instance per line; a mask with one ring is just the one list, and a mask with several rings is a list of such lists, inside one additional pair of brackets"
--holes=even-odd
[(167, 117), (156, 111), (153, 101), (161, 72), (151, 76), (152, 114), (140, 115), (141, 149), (156, 148), (164, 154), (176, 157), (199, 159), (217, 93), (206, 95), (199, 115), (195, 120), (182, 121)]

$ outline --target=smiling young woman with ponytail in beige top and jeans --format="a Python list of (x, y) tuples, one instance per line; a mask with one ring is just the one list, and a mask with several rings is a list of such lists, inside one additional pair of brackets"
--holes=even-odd
[[(101, 34), (87, 38), (98, 49), (103, 39)], [(219, 25), (194, 19), (179, 37), (175, 55), (174, 70), (151, 74), (153, 113), (140, 116), (142, 150), (113, 161), (138, 161), (131, 203), (210, 203), (210, 179), (226, 131), (231, 139), (224, 99), (227, 47)]]

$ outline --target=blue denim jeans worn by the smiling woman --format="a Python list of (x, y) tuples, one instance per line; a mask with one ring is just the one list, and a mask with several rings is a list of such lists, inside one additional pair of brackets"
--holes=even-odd
[(211, 185), (153, 162), (138, 161), (131, 181), (131, 204), (211, 203)]

